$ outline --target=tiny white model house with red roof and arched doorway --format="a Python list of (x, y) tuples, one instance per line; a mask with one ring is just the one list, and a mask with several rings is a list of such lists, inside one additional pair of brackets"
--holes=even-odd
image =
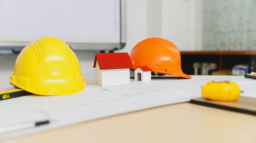
[(135, 81), (148, 82), (151, 81), (151, 69), (147, 66), (139, 66), (134, 70)]

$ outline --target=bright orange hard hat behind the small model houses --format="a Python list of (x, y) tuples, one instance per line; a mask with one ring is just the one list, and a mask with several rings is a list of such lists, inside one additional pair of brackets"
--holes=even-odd
[(139, 42), (131, 51), (133, 69), (138, 66), (148, 66), (155, 74), (164, 73), (185, 78), (181, 69), (181, 58), (174, 43), (162, 38), (148, 38)]

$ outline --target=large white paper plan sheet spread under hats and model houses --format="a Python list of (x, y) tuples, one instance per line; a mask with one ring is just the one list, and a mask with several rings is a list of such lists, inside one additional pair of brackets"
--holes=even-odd
[[(0, 127), (49, 119), (49, 125), (5, 134), (0, 138), (50, 130), (121, 113), (189, 101), (201, 97), (201, 87), (209, 80), (237, 82), (245, 93), (256, 97), (256, 80), (243, 76), (154, 77), (151, 82), (100, 87), (87, 85), (84, 91), (64, 96), (24, 96), (0, 101)], [(0, 87), (4, 88), (4, 87)]]

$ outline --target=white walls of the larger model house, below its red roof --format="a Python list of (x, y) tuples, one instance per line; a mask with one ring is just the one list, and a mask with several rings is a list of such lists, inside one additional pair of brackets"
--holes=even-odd
[(102, 87), (130, 84), (130, 69), (103, 69), (96, 62), (97, 84)]

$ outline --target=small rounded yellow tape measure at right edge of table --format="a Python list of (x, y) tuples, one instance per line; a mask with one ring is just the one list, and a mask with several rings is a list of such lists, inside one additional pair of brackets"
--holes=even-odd
[(202, 96), (214, 101), (236, 101), (240, 96), (240, 88), (234, 82), (208, 81), (202, 87)]

